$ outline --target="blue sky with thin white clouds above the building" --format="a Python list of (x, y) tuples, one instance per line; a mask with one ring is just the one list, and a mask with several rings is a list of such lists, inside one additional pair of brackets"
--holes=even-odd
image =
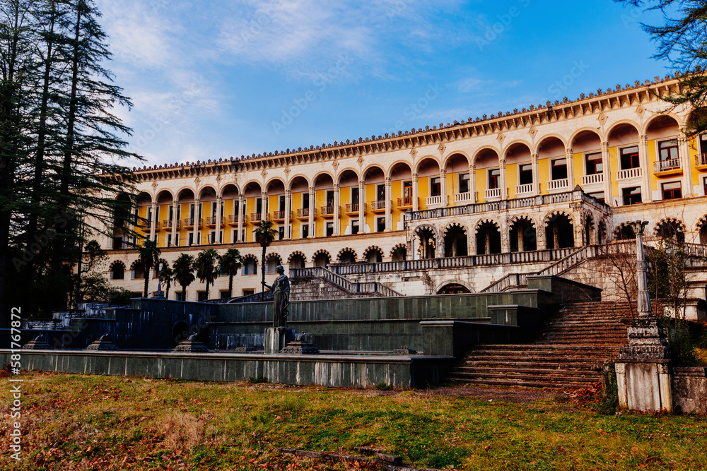
[(147, 165), (378, 136), (670, 72), (639, 26), (660, 17), (611, 0), (97, 3), (134, 103), (117, 113)]

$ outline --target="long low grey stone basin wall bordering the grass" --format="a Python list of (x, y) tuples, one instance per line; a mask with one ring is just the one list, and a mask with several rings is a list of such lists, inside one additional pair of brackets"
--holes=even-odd
[[(244, 381), (334, 387), (424, 388), (448, 373), (454, 357), (385, 354), (264, 354), (262, 352), (145, 352), (131, 350), (23, 350), (22, 369), (74, 374)], [(10, 361), (0, 350), (0, 362)]]

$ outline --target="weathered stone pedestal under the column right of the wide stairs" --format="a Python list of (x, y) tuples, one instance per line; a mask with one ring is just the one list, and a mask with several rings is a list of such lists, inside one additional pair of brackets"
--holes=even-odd
[(672, 412), (667, 346), (658, 318), (638, 316), (629, 326), (629, 343), (616, 360), (619, 405), (631, 410)]

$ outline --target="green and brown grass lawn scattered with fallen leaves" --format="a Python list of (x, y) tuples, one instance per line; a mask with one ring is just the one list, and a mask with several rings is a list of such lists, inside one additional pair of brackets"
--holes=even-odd
[[(0, 469), (349, 469), (279, 447), (376, 446), (418, 467), (464, 470), (707, 469), (704, 417), (597, 415), (590, 403), (506, 403), (250, 383), (24, 373), (22, 460), (10, 458), (10, 383), (2, 381)], [(464, 390), (466, 388), (462, 388)]]

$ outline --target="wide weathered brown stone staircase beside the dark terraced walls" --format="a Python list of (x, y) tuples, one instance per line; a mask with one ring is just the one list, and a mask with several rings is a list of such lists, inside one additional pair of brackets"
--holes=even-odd
[(597, 366), (626, 342), (626, 303), (568, 304), (539, 340), (528, 345), (479, 345), (450, 380), (485, 386), (588, 388), (600, 381)]

